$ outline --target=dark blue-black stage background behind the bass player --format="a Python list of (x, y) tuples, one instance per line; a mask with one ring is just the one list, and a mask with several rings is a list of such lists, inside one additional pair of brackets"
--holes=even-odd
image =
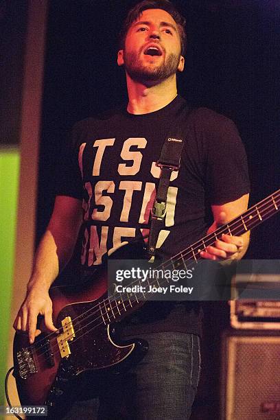
[[(280, 187), (278, 0), (174, 1), (187, 17), (188, 49), (179, 91), (189, 102), (231, 117), (250, 168), (251, 204)], [(49, 2), (43, 96), (37, 242), (54, 203), (55, 167), (66, 132), (79, 119), (126, 100), (117, 67), (117, 34), (135, 1)], [(279, 216), (253, 232), (247, 257), (280, 255)], [(226, 303), (205, 305), (204, 372), (198, 418), (218, 410), (220, 331), (229, 325)], [(209, 367), (211, 366), (211, 368)], [(196, 418), (195, 415), (193, 418)], [(217, 416), (215, 416), (217, 418)]]

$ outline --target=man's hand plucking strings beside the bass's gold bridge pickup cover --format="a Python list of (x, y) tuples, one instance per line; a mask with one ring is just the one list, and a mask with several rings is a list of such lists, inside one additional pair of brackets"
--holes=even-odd
[(36, 285), (30, 292), (27, 292), (25, 301), (14, 321), (14, 329), (28, 332), (30, 344), (42, 332), (36, 328), (39, 314), (45, 317), (45, 327), (49, 331), (58, 331), (52, 320), (52, 303), (49, 292), (42, 286)]

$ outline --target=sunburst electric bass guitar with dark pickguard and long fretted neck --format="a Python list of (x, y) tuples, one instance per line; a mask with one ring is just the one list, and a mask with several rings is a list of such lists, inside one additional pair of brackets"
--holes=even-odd
[[(223, 233), (242, 235), (279, 210), (280, 189), (156, 268), (186, 269), (194, 261), (198, 263), (200, 251), (214, 244)], [(145, 257), (143, 245), (130, 244), (130, 256), (124, 248), (117, 250), (114, 257)], [(159, 281), (156, 279), (157, 285), (160, 285)], [(115, 375), (129, 369), (132, 363), (143, 358), (148, 343), (141, 339), (120, 342), (115, 326), (145, 303), (145, 295), (141, 293), (141, 299), (137, 292), (108, 296), (106, 268), (103, 266), (94, 279), (80, 286), (51, 288), (49, 294), (58, 333), (42, 333), (30, 345), (26, 333), (16, 332), (14, 377), (23, 406), (46, 405), (49, 418), (61, 419), (73, 400), (78, 398), (81, 378), (91, 380), (89, 378), (94, 373), (98, 382), (104, 375)]]

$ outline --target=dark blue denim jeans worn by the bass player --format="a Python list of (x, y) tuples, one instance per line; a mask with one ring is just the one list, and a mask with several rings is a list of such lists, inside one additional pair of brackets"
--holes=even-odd
[[(129, 337), (131, 338), (131, 337)], [(149, 351), (137, 366), (75, 404), (65, 420), (187, 420), (200, 377), (200, 339), (194, 334), (141, 334)]]

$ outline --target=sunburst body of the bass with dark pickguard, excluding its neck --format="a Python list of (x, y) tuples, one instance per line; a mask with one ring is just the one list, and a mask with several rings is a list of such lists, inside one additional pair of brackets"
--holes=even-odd
[[(137, 257), (141, 248), (137, 246)], [(115, 257), (124, 258), (123, 252), (117, 251)], [(108, 315), (104, 307), (106, 269), (97, 270), (95, 277), (79, 286), (50, 289), (54, 325), (61, 329), (63, 320), (69, 324), (67, 317), (75, 324), (75, 336), (62, 338), (71, 351), (67, 357), (59, 349), (59, 334), (43, 332), (31, 346), (27, 334), (16, 332), (14, 336), (14, 377), (21, 404), (47, 405), (51, 419), (64, 416), (75, 399), (86, 399), (79, 395), (83, 382), (90, 378), (93, 397), (100, 380), (129, 369), (148, 350), (144, 340), (119, 341), (113, 314)]]

